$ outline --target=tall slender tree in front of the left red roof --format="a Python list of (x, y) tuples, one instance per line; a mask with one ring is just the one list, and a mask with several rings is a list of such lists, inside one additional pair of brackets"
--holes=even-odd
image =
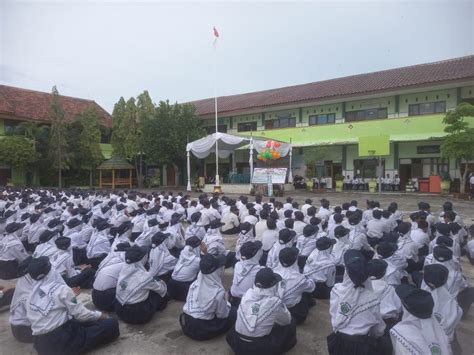
[(62, 170), (68, 168), (67, 122), (56, 86), (53, 86), (51, 94), (48, 156), (51, 159), (52, 167), (58, 169), (58, 187), (61, 188)]

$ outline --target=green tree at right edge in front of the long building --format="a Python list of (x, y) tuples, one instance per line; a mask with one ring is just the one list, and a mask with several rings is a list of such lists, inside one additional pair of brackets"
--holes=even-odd
[[(465, 192), (468, 173), (467, 162), (474, 159), (474, 106), (460, 103), (454, 111), (449, 111), (443, 119), (444, 131), (448, 135), (441, 144), (441, 155), (456, 160), (457, 172), (461, 176), (460, 192)], [(471, 124), (470, 124), (471, 123)], [(461, 173), (461, 164), (464, 171)]]

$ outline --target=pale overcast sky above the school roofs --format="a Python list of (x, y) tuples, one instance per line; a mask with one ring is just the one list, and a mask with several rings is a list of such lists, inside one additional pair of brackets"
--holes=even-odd
[(212, 97), (215, 59), (220, 96), (303, 84), (473, 54), (473, 3), (0, 0), (0, 83), (109, 112)]

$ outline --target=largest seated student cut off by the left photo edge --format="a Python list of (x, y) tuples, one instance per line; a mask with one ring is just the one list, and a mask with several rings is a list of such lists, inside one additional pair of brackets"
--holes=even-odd
[(18, 235), (24, 223), (8, 223), (5, 235), (0, 236), (0, 279), (11, 280), (18, 277), (18, 264), (28, 257)]

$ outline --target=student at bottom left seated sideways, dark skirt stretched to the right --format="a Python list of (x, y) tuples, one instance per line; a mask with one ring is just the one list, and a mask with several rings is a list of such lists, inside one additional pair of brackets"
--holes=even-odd
[(28, 265), (33, 289), (27, 305), (34, 348), (40, 355), (80, 354), (108, 344), (120, 335), (118, 321), (90, 311), (45, 256)]

